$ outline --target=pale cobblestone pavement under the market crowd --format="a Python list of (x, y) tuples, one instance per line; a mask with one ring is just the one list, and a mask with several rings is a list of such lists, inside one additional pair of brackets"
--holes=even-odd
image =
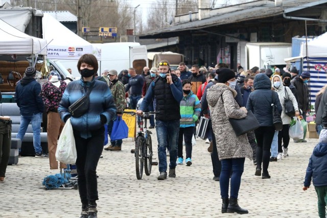
[[(157, 141), (152, 135), (155, 157)], [(289, 157), (270, 162), (271, 179), (254, 176), (255, 166), (246, 159), (239, 204), (249, 214), (220, 212), (219, 182), (212, 180), (208, 144), (197, 139), (191, 166), (178, 165), (176, 178), (158, 181), (158, 167), (142, 180), (135, 176), (132, 141), (122, 151), (103, 151), (98, 165), (99, 217), (318, 217), (316, 193), (311, 186), (302, 191), (309, 157), (318, 139), (291, 142)], [(49, 160), (21, 157), (9, 165), (6, 180), (0, 182), (0, 217), (79, 217), (78, 190), (42, 188), (43, 178), (56, 174)]]

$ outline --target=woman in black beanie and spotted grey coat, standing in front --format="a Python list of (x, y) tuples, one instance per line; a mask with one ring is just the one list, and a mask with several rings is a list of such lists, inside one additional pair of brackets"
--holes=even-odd
[[(217, 140), (218, 156), (222, 169), (220, 174), (220, 195), (223, 201), (222, 213), (248, 213), (238, 205), (241, 176), (244, 171), (245, 157), (252, 160), (252, 150), (246, 134), (237, 136), (228, 118), (242, 119), (247, 110), (237, 104), (235, 74), (228, 68), (221, 68), (218, 83), (207, 90), (207, 102), (211, 111), (213, 130)], [(228, 199), (229, 175), (230, 198)]]

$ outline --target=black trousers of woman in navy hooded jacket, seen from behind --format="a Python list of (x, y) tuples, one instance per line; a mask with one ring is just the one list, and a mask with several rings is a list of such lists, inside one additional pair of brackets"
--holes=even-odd
[(268, 173), (270, 147), (272, 139), (274, 138), (274, 127), (259, 127), (254, 130), (256, 138), (256, 168), (261, 168), (262, 172)]

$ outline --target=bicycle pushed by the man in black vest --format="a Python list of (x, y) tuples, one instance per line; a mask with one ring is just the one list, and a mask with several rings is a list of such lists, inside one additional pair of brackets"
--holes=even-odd
[[(127, 112), (126, 114), (130, 114), (135, 116), (137, 119), (137, 114), (133, 111)], [(147, 176), (150, 176), (152, 165), (158, 165), (158, 162), (152, 161), (153, 151), (152, 151), (152, 139), (151, 139), (151, 131), (147, 130), (147, 119), (150, 115), (158, 114), (159, 112), (143, 112), (143, 115), (139, 120), (137, 120), (137, 124), (139, 127), (139, 131), (136, 135), (135, 140), (135, 150), (131, 150), (131, 153), (135, 153), (135, 170), (136, 170), (136, 178), (142, 179), (143, 176), (143, 166), (144, 171)]]

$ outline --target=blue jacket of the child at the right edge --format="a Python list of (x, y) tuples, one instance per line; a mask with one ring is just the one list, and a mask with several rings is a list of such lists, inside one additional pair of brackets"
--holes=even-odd
[(311, 179), (314, 186), (327, 186), (327, 143), (319, 142), (313, 149), (307, 167), (305, 187), (309, 187)]

